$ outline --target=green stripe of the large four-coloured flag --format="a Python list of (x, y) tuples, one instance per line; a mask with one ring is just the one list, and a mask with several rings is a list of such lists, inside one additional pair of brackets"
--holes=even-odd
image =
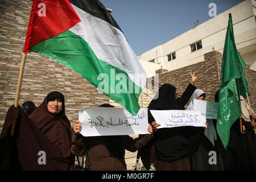
[(86, 78), (113, 101), (126, 107), (131, 114), (138, 113), (138, 97), (142, 88), (135, 85), (126, 72), (98, 59), (89, 44), (72, 31), (44, 40), (32, 47), (30, 52), (59, 61)]

